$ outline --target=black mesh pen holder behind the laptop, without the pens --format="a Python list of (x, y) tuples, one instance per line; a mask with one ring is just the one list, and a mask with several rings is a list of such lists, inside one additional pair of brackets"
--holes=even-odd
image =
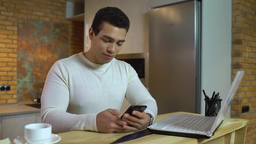
[(220, 110), (222, 99), (218, 99), (214, 101), (210, 98), (210, 99), (204, 99), (204, 101), (205, 101), (205, 116), (217, 116)]

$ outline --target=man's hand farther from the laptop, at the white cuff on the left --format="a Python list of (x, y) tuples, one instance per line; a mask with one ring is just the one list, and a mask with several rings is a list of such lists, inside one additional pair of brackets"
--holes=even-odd
[(120, 119), (118, 110), (109, 108), (97, 114), (96, 125), (98, 132), (113, 133), (124, 131), (122, 126), (127, 123)]

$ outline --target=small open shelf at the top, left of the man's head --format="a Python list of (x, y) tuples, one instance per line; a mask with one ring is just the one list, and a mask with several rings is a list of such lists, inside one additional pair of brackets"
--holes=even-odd
[(84, 0), (66, 0), (66, 19), (84, 21)]

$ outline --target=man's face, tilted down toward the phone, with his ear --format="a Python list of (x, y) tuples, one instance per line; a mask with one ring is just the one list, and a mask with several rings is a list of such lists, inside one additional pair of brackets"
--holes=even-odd
[(104, 22), (97, 36), (92, 28), (89, 30), (91, 48), (86, 57), (95, 64), (109, 63), (122, 48), (126, 36), (125, 28), (118, 28)]

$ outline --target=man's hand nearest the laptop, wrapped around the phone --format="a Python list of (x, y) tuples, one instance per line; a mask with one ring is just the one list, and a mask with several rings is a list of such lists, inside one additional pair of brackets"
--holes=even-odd
[(123, 126), (125, 130), (137, 131), (146, 128), (150, 122), (150, 116), (145, 112), (132, 111), (132, 115), (124, 114), (122, 120), (128, 125)]

